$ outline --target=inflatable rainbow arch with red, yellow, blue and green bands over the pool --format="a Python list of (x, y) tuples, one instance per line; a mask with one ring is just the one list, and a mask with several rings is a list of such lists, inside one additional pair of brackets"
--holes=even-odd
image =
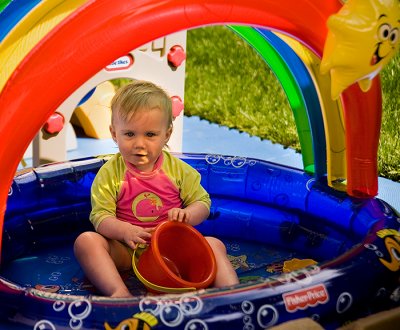
[[(234, 24), (231, 28), (276, 73), (293, 109), (304, 169), (316, 178), (327, 176), (329, 185), (346, 189), (351, 196), (375, 196), (382, 110), (376, 73), (381, 66), (373, 66), (378, 61), (368, 64), (373, 72), (363, 71), (362, 83), (356, 84), (357, 74), (346, 76), (346, 72), (334, 70), (336, 62), (342, 65), (340, 58), (321, 62), (324, 47), (334, 54), (335, 36), (329, 35), (329, 25), (335, 28), (337, 22), (350, 23), (350, 29), (340, 31), (341, 35), (348, 35), (350, 41), (359, 37), (358, 27), (353, 26), (357, 10), (368, 10), (371, 21), (366, 24), (373, 31), (382, 32), (383, 24), (377, 20), (387, 18), (393, 29), (381, 34), (394, 45), (394, 54), (398, 42), (391, 36), (399, 21), (392, 17), (398, 16), (398, 2), (368, 4), (365, 9), (358, 0), (345, 5), (337, 0), (323, 4), (317, 0), (284, 4), (272, 0), (0, 1), (0, 61), (5, 64), (0, 69), (0, 132), (5, 137), (0, 143), (1, 223), (8, 189), (24, 151), (72, 92), (132, 49), (173, 32), (210, 24)], [(350, 7), (354, 17), (341, 14), (344, 6)], [(380, 51), (371, 56), (378, 54), (374, 58), (381, 60)], [(344, 55), (355, 57), (351, 49)], [(332, 75), (321, 74), (322, 66)], [(350, 78), (342, 81), (342, 76)], [(341, 92), (340, 98), (335, 98), (333, 86), (336, 94)]]

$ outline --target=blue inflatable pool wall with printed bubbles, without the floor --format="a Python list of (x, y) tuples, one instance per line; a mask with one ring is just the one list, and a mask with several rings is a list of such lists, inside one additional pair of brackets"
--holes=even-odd
[[(180, 309), (174, 327), (183, 329), (196, 319), (208, 329), (234, 329), (243, 327), (246, 319), (258, 329), (312, 317), (326, 328), (335, 328), (399, 304), (400, 219), (388, 204), (376, 198), (351, 198), (328, 187), (323, 179), (316, 181), (302, 170), (266, 161), (177, 156), (200, 172), (212, 198), (210, 217), (198, 226), (203, 234), (297, 251), (317, 264), (235, 288), (194, 292), (188, 301), (201, 302), (202, 307), (195, 313)], [(106, 160), (87, 158), (16, 175), (4, 224), (5, 268), (38, 250), (51, 251), (59, 245), (72, 249), (74, 238), (92, 229), (90, 187)], [(79, 306), (90, 305), (90, 313), (81, 319), (82, 328), (101, 328), (105, 323), (116, 327), (135, 312), (150, 312), (158, 319), (157, 329), (168, 328), (172, 323), (163, 317), (160, 306), (181, 299), (142, 296), (115, 303), (104, 297), (44, 293), (23, 283), (16, 285), (12, 278), (0, 279), (1, 318), (27, 324), (46, 319), (68, 326), (71, 317), (60, 316), (55, 306), (72, 308), (78, 300)]]

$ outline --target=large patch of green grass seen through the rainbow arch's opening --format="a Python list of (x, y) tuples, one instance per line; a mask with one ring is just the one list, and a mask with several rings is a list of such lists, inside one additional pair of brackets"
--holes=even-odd
[(227, 27), (188, 31), (185, 114), (300, 147), (278, 80), (253, 48)]

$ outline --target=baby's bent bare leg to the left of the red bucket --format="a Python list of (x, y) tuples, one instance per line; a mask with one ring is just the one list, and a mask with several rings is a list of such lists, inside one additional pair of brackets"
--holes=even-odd
[(74, 253), (89, 281), (104, 295), (132, 297), (119, 271), (131, 267), (126, 247), (95, 232), (84, 232), (75, 240)]

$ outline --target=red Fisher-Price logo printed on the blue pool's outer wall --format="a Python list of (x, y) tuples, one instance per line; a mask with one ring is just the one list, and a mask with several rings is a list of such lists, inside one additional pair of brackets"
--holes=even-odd
[(323, 284), (284, 293), (282, 297), (286, 310), (290, 313), (294, 313), (297, 309), (306, 309), (318, 304), (326, 304), (329, 300), (328, 291), (326, 291)]

